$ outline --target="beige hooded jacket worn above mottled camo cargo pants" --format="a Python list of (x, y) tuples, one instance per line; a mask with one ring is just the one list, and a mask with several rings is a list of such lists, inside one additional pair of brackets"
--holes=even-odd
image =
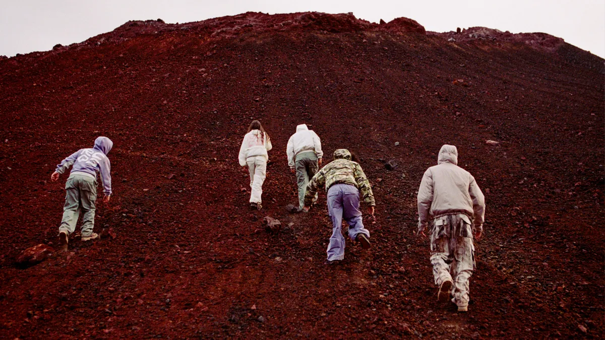
[(433, 217), (465, 214), (474, 218), (474, 228), (483, 230), (485, 197), (475, 178), (457, 166), (456, 146), (443, 145), (437, 165), (425, 171), (418, 189), (418, 231), (428, 224), (429, 212)]

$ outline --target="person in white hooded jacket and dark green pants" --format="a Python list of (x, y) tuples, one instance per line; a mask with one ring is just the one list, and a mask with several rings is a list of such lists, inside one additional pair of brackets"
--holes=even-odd
[[(296, 133), (288, 140), (286, 148), (288, 165), (292, 172), (296, 172), (298, 184), (298, 211), (304, 208), (304, 194), (307, 191), (309, 178), (313, 178), (321, 165), (321, 140), (306, 124), (296, 126)], [(317, 195), (315, 196), (317, 200)]]

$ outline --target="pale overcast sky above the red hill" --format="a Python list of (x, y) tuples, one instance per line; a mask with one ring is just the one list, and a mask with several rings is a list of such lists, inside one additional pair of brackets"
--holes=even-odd
[(605, 0), (0, 0), (0, 55), (82, 42), (129, 20), (183, 23), (246, 11), (353, 12), (371, 22), (405, 16), (437, 32), (473, 26), (545, 32), (605, 57)]

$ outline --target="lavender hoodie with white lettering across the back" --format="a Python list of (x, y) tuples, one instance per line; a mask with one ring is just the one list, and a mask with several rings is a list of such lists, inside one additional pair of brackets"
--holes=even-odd
[(83, 175), (91, 175), (97, 178), (100, 172), (103, 181), (105, 195), (111, 195), (111, 164), (107, 154), (110, 152), (113, 142), (107, 137), (97, 137), (92, 149), (79, 149), (57, 165), (57, 172), (63, 174), (71, 165), (71, 174), (79, 172)]

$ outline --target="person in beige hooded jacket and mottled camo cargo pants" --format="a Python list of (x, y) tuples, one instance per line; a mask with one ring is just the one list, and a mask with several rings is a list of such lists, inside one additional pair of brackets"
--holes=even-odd
[(418, 234), (425, 237), (430, 212), (434, 217), (431, 264), (435, 284), (439, 286), (437, 299), (448, 301), (451, 294), (458, 311), (466, 312), (468, 280), (475, 267), (473, 232), (479, 240), (483, 232), (485, 198), (475, 178), (457, 163), (456, 146), (443, 145), (437, 165), (424, 173), (418, 189)]

